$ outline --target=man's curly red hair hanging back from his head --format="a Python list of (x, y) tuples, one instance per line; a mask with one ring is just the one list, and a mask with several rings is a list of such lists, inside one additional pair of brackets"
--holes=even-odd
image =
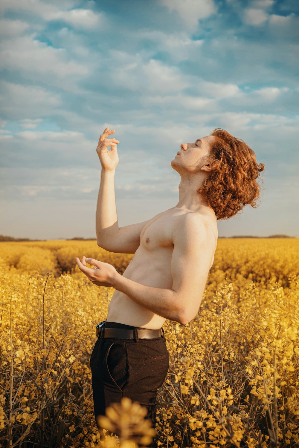
[(208, 156), (213, 169), (197, 190), (203, 201), (215, 211), (217, 220), (236, 215), (245, 205), (256, 208), (260, 185), (256, 179), (264, 171), (256, 154), (240, 138), (216, 128), (210, 134), (215, 137)]

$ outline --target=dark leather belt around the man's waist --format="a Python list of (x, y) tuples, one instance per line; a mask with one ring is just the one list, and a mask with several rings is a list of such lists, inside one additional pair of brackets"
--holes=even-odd
[(152, 330), (150, 328), (105, 328), (104, 322), (98, 323), (95, 334), (98, 339), (112, 338), (112, 339), (154, 339), (158, 337), (165, 337), (163, 328)]

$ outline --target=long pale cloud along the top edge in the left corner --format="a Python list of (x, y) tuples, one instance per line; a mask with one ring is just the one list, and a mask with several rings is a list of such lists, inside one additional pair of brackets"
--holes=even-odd
[[(72, 2), (74, 4), (74, 2)], [(72, 7), (72, 4), (61, 3), (60, 6)], [(62, 11), (54, 4), (43, 3), (39, 0), (2, 0), (0, 4), (0, 10), (25, 10), (31, 14), (36, 14), (47, 22), (52, 20), (62, 20), (69, 23), (72, 26), (78, 28), (94, 28), (99, 25), (101, 14), (94, 13), (91, 9), (71, 9), (68, 11)]]

